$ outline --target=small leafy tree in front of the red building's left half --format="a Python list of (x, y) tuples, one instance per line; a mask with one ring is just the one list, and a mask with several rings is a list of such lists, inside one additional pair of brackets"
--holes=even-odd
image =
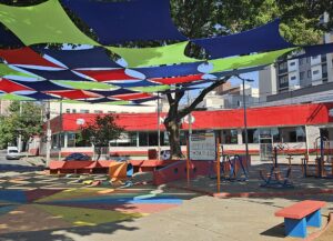
[(93, 122), (81, 128), (82, 139), (90, 140), (98, 152), (97, 160), (101, 157), (102, 148), (109, 147), (109, 142), (117, 140), (123, 132), (123, 128), (119, 127), (115, 120), (113, 114), (97, 116)]

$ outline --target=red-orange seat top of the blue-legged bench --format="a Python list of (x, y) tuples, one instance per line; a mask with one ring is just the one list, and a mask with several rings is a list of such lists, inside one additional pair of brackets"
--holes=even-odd
[(287, 219), (303, 219), (304, 217), (315, 212), (326, 205), (326, 202), (305, 200), (275, 212), (276, 217)]

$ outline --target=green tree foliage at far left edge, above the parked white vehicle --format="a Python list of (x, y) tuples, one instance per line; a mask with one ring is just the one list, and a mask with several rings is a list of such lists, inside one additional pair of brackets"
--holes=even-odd
[(41, 106), (33, 102), (22, 102), (20, 114), (20, 102), (10, 104), (8, 117), (0, 119), (0, 147), (6, 148), (8, 143), (16, 143), (19, 134), (27, 143), (33, 135), (42, 132)]

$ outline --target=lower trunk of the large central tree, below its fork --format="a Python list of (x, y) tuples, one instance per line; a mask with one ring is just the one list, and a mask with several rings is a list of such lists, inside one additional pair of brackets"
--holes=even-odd
[(169, 135), (171, 159), (184, 158), (180, 145), (180, 124), (175, 121), (165, 123)]

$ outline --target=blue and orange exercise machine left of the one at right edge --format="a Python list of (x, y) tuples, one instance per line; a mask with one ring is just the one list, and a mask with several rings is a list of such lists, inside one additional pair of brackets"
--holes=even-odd
[(260, 178), (264, 181), (260, 184), (262, 188), (276, 188), (276, 189), (285, 189), (285, 188), (294, 188), (291, 181), (291, 155), (287, 158), (290, 160), (289, 168), (285, 172), (285, 175), (281, 175), (281, 170), (278, 163), (278, 149), (283, 150), (283, 145), (276, 144), (274, 147), (274, 157), (273, 157), (273, 165), (268, 173), (263, 173), (263, 170), (260, 170)]

